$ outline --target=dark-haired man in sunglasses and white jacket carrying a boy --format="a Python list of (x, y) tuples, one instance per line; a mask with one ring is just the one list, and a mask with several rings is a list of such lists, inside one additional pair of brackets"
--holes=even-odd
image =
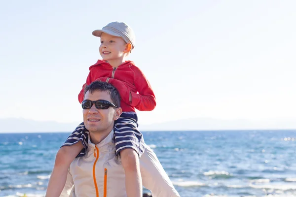
[[(95, 81), (86, 86), (81, 105), (88, 148), (70, 165), (61, 197), (127, 197), (125, 173), (114, 144), (114, 121), (122, 113), (119, 93), (111, 84)], [(143, 185), (153, 197), (180, 197), (147, 145), (139, 161)]]

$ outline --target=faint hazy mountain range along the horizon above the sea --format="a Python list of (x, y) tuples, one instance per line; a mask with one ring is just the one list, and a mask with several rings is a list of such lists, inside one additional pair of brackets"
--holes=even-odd
[[(0, 119), (0, 132), (71, 132), (80, 122), (58, 123), (20, 118)], [(296, 129), (296, 120), (219, 120), (194, 118), (151, 125), (139, 125), (140, 131), (194, 131), (194, 130), (276, 130)]]

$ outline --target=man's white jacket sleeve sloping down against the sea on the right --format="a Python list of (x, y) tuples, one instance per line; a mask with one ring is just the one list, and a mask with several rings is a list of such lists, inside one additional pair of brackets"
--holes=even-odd
[(140, 158), (140, 170), (143, 185), (151, 191), (152, 197), (180, 197), (155, 153), (146, 144)]

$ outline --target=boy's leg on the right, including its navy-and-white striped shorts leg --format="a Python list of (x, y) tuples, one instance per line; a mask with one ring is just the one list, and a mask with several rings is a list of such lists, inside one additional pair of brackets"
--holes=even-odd
[(135, 113), (122, 113), (114, 125), (116, 155), (120, 153), (121, 163), (125, 171), (125, 187), (128, 197), (142, 197), (143, 186), (139, 165), (142, 133), (137, 128)]

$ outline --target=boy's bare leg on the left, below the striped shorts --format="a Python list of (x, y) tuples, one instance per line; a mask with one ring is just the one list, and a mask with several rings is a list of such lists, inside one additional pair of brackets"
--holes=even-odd
[(56, 155), (45, 197), (59, 197), (61, 195), (66, 183), (69, 166), (83, 147), (81, 141), (78, 141), (71, 146), (60, 148)]

